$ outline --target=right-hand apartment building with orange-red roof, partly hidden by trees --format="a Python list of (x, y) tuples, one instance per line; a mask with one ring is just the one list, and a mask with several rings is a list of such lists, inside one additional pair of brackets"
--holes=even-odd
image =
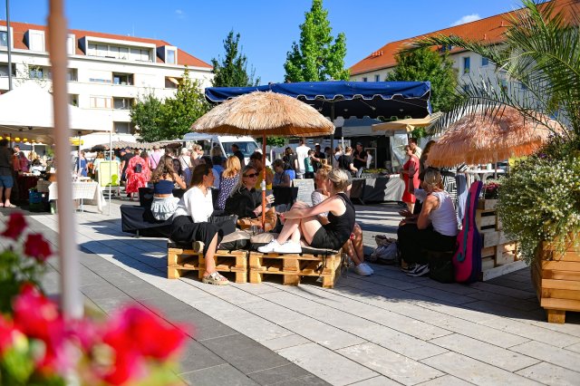
[[(580, 12), (580, 2), (578, 0), (553, 0), (550, 3), (555, 4), (555, 12), (563, 11), (564, 14), (569, 15), (570, 17), (572, 14), (578, 14)], [(355, 63), (350, 68), (350, 79), (351, 81), (359, 82), (385, 81), (387, 74), (397, 65), (395, 59), (396, 53), (401, 51), (401, 49), (410, 46), (414, 40), (420, 39), (424, 36), (439, 34), (448, 36), (455, 35), (464, 39), (488, 44), (499, 44), (502, 42), (503, 34), (507, 30), (510, 14), (511, 12), (496, 14), (475, 22), (460, 24), (428, 34), (386, 43), (360, 62)], [(437, 47), (437, 50), (439, 50), (440, 53), (449, 54), (449, 59), (452, 61), (453, 67), (457, 70), (459, 87), (471, 87), (471, 79), (477, 81), (483, 77), (483, 79), (489, 79), (492, 82), (494, 79), (497, 79), (497, 76), (492, 75), (492, 72), (495, 71), (495, 66), (493, 63), (490, 63), (486, 57), (453, 46)], [(418, 79), (417, 81), (427, 80)], [(500, 82), (502, 82), (502, 86), (506, 86), (507, 84), (507, 80), (505, 79), (501, 79)], [(491, 85), (497, 86), (497, 84)], [(523, 84), (512, 85), (512, 87), (520, 87), (522, 90), (525, 90)]]

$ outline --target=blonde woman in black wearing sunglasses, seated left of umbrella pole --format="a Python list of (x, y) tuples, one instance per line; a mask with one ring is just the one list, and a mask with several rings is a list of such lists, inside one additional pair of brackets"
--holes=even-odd
[[(257, 170), (251, 165), (242, 169), (241, 178), (226, 200), (224, 210), (227, 215), (256, 218), (262, 214), (262, 200), (255, 188), (257, 176)], [(274, 202), (274, 196), (267, 196), (266, 200), (271, 204)]]

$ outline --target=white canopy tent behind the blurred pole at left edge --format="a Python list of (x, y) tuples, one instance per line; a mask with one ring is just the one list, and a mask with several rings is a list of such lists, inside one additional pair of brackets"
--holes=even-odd
[[(111, 131), (111, 122), (96, 111), (69, 105), (71, 136)], [(53, 95), (36, 82), (25, 82), (0, 95), (0, 136), (54, 143)]]

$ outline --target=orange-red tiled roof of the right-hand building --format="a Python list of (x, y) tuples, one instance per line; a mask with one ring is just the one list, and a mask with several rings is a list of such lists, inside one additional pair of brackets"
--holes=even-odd
[[(580, 14), (580, 0), (553, 0), (555, 3), (554, 12), (564, 11), (564, 14)], [(509, 15), (512, 12), (505, 14), (496, 14), (495, 16), (486, 17), (475, 22), (460, 24), (454, 27), (445, 28), (429, 34), (422, 34), (420, 36), (411, 37), (409, 39), (400, 40), (398, 42), (391, 42), (383, 45), (374, 53), (371, 53), (362, 61), (355, 63), (351, 67), (351, 74), (356, 75), (363, 72), (372, 72), (382, 70), (385, 68), (397, 65), (395, 55), (406, 45), (410, 45), (414, 40), (425, 36), (432, 35), (456, 35), (468, 40), (484, 41), (490, 44), (499, 43), (503, 40), (502, 35), (506, 31), (509, 24)], [(434, 48), (435, 49), (435, 48)], [(450, 53), (457, 53), (464, 51), (461, 48), (454, 48)]]

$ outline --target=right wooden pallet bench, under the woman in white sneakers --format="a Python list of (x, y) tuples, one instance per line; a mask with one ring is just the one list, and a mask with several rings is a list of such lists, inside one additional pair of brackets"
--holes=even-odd
[(250, 252), (250, 283), (262, 283), (264, 275), (283, 275), (284, 285), (299, 285), (301, 276), (320, 276), (324, 288), (333, 288), (341, 275), (341, 254), (323, 256)]

